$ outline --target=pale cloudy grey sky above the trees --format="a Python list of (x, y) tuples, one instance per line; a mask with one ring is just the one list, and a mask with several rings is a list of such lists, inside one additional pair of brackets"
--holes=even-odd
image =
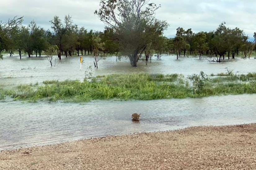
[[(100, 0), (1, 0), (0, 20), (24, 16), (23, 24), (34, 20), (49, 29), (55, 15), (61, 19), (70, 14), (75, 24), (90, 30), (104, 30), (104, 24), (93, 14), (100, 8)], [(170, 26), (164, 32), (174, 37), (176, 28), (192, 28), (193, 32), (213, 31), (225, 21), (227, 27), (238, 27), (253, 38), (256, 32), (256, 0), (150, 0), (161, 4), (156, 18)]]

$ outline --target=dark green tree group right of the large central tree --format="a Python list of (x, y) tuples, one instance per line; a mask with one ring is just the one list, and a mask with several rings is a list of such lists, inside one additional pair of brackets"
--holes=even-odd
[(168, 51), (176, 53), (177, 59), (186, 53), (198, 54), (199, 58), (203, 55), (214, 55), (217, 62), (221, 62), (224, 56), (228, 59), (235, 58), (235, 54), (238, 55), (239, 52), (242, 52), (244, 57), (250, 57), (255, 50), (256, 33), (254, 32), (254, 41), (251, 42), (243, 30), (237, 27), (231, 29), (225, 24), (222, 22), (215, 31), (198, 33), (193, 33), (191, 28), (184, 30), (179, 27), (176, 29), (176, 36), (168, 41)]

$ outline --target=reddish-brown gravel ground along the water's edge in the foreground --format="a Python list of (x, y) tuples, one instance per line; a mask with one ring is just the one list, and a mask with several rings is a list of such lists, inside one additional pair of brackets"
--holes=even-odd
[(256, 124), (83, 139), (0, 152), (0, 170), (256, 169)]

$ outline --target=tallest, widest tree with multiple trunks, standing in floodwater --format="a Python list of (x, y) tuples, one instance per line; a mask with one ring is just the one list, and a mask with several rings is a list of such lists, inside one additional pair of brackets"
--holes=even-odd
[(119, 51), (129, 57), (132, 66), (137, 66), (146, 47), (168, 27), (166, 21), (155, 18), (159, 6), (149, 0), (101, 0), (100, 6), (95, 14), (114, 31)]

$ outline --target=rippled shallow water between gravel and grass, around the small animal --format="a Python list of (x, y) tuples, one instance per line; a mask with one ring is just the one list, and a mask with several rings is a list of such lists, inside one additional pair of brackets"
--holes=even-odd
[[(80, 138), (256, 122), (256, 95), (77, 103), (0, 102), (0, 150)], [(141, 113), (133, 122), (132, 113)]]

